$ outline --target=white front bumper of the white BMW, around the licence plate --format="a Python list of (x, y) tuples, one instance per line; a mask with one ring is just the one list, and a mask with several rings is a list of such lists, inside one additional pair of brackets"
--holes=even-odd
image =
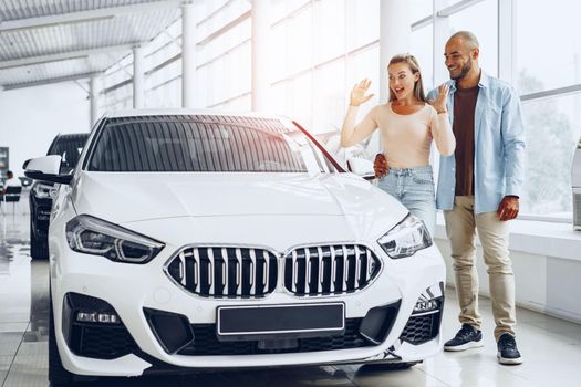
[[(64, 240), (64, 232), (53, 233), (51, 229), (51, 241), (58, 238)], [(184, 372), (187, 368), (417, 362), (442, 348), (439, 324), (444, 306), (445, 265), (435, 245), (401, 260), (390, 260), (381, 248), (370, 247), (383, 261), (382, 270), (366, 287), (352, 293), (298, 296), (277, 286), (272, 293), (257, 299), (216, 299), (185, 291), (164, 271), (170, 252), (177, 250), (177, 247), (166, 248), (167, 251), (147, 264), (126, 264), (76, 253), (68, 245), (51, 242), (51, 292), (56, 343), (68, 370), (77, 375), (138, 376), (155, 372)], [(89, 331), (76, 333), (73, 337), (72, 325), (75, 324), (76, 313), (91, 313), (90, 306), (86, 306), (91, 302), (81, 307), (71, 306), (71, 294), (105, 302), (122, 324), (114, 326), (114, 331), (107, 324), (76, 324)], [(426, 296), (438, 301), (437, 308), (428, 314), (414, 313), (418, 300)], [(318, 338), (314, 337), (305, 339), (307, 349), (300, 344), (294, 348), (257, 351), (256, 342), (222, 343), (216, 337), (217, 308), (221, 306), (326, 303), (344, 305), (350, 337), (338, 335), (334, 341), (347, 344), (323, 345), (315, 343)], [(384, 317), (381, 323), (382, 326), (388, 325), (385, 335), (377, 336), (382, 337), (380, 341), (365, 338), (360, 334), (363, 321), (372, 310), (382, 307), (395, 308), (393, 316)], [(190, 325), (193, 341), (183, 341), (189, 351), (168, 351), (159, 332), (153, 327), (148, 311), (179, 316)], [(79, 330), (79, 326), (75, 328)], [(84, 342), (80, 343), (79, 337), (83, 337)], [(301, 339), (299, 343), (302, 343)], [(121, 349), (110, 352), (110, 347)], [(197, 351), (197, 347), (205, 349)], [(249, 347), (253, 349), (245, 349)]]

